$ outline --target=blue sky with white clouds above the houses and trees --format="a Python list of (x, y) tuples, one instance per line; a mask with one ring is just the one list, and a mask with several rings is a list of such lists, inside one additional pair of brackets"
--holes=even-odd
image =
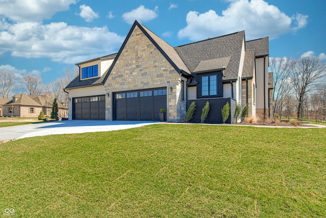
[(172, 46), (237, 31), (270, 57), (326, 60), (324, 0), (0, 0), (0, 71), (39, 74), (117, 52), (135, 19)]

